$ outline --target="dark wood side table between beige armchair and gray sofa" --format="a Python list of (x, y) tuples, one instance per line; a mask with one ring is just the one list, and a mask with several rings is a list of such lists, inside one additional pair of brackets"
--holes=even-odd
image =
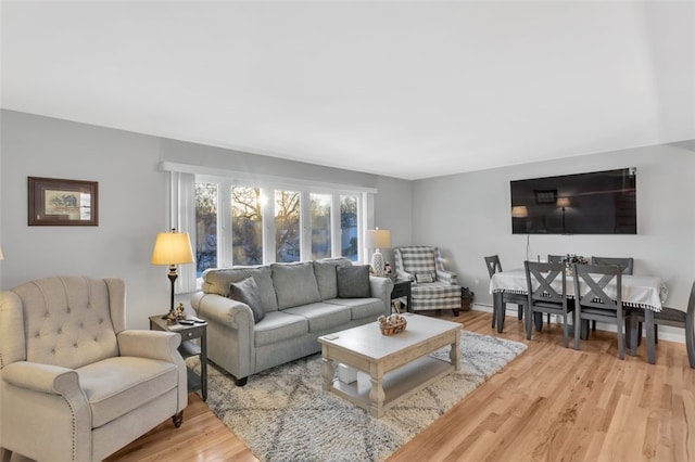
[[(181, 345), (178, 347), (184, 358), (190, 356), (200, 357), (200, 376), (188, 369), (188, 390), (201, 390), (203, 401), (207, 399), (207, 323), (195, 322), (193, 325), (167, 324), (162, 316), (150, 317), (150, 330), (176, 332), (181, 335)], [(194, 339), (200, 339), (200, 345)]]

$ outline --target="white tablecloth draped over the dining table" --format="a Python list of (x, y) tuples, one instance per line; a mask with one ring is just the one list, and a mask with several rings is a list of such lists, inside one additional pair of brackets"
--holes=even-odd
[[(534, 288), (538, 283), (534, 281)], [(553, 284), (553, 288), (561, 291), (561, 279), (558, 278)], [(583, 284), (582, 284), (583, 286)], [(581, 287), (580, 287), (581, 290)], [(511, 292), (515, 294), (527, 294), (526, 272), (522, 269), (502, 271), (492, 275), (490, 280), (490, 293)], [(574, 296), (573, 278), (567, 277), (567, 295)], [(615, 296), (615, 284), (606, 286), (606, 295)], [(626, 305), (640, 308), (649, 308), (661, 311), (661, 304), (666, 301), (668, 291), (661, 283), (660, 278), (652, 275), (622, 275), (622, 301)]]

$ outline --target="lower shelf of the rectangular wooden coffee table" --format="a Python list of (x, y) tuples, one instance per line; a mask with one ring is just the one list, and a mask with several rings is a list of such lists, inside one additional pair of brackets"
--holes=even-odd
[(357, 380), (350, 384), (336, 377), (332, 393), (368, 411), (371, 415), (380, 418), (387, 409), (392, 408), (454, 370), (454, 365), (448, 361), (424, 356), (387, 372), (382, 380), (383, 407), (379, 409), (369, 399), (371, 378), (368, 373), (363, 371), (358, 371)]

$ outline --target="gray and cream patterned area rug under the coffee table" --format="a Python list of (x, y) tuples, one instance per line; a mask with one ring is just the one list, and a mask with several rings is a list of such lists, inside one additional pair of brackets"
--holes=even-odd
[[(207, 405), (262, 461), (382, 461), (526, 348), (463, 331), (462, 370), (381, 419), (321, 390), (320, 354), (253, 375), (244, 387), (208, 367)], [(432, 355), (448, 360), (448, 347)]]

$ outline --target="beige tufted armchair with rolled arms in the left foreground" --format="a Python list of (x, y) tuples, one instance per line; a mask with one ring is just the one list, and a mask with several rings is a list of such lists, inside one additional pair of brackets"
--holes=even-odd
[(0, 448), (98, 461), (187, 406), (180, 336), (125, 330), (119, 279), (48, 278), (0, 294)]

